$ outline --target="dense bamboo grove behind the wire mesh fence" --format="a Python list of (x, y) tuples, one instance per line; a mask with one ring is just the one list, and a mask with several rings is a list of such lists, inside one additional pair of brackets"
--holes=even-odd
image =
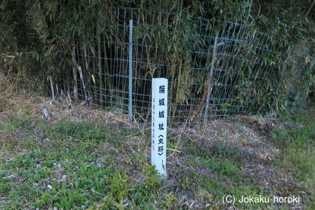
[(137, 114), (149, 113), (153, 77), (170, 82), (173, 122), (200, 122), (208, 106), (210, 118), (278, 113), (303, 101), (314, 85), (308, 46), (314, 39), (302, 33), (288, 39), (283, 22), (277, 30), (287, 36), (263, 28), (259, 6), (252, 0), (2, 1), (1, 74), (54, 99), (63, 90), (88, 106), (126, 111), (133, 20)]

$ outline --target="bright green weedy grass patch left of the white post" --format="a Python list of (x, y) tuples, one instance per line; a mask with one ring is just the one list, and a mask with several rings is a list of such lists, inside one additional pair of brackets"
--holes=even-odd
[(147, 208), (161, 187), (143, 156), (131, 162), (128, 153), (120, 154), (120, 148), (129, 151), (124, 136), (133, 129), (26, 118), (0, 129), (1, 151), (12, 155), (9, 161), (0, 158), (0, 195), (5, 197), (0, 209)]

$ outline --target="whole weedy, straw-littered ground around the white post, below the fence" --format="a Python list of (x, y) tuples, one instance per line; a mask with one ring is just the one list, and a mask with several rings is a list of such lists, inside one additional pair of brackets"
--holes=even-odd
[[(231, 207), (222, 202), (226, 195), (235, 196), (240, 209), (312, 209), (314, 110), (284, 117), (272, 140), (236, 122), (227, 124), (233, 131), (225, 140), (169, 127), (172, 187), (150, 166), (146, 124), (0, 113), (0, 209), (222, 209)], [(238, 202), (292, 195), (302, 203)]]

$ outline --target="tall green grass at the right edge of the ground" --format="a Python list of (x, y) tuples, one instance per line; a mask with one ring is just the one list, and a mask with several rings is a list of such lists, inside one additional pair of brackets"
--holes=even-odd
[(310, 194), (308, 208), (315, 208), (315, 106), (284, 117), (284, 126), (272, 131), (273, 138), (284, 149), (283, 164), (295, 178), (303, 181)]

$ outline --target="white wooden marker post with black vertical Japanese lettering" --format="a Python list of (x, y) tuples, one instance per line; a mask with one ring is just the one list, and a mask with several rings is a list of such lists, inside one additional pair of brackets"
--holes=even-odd
[(151, 163), (166, 177), (167, 79), (152, 79)]

